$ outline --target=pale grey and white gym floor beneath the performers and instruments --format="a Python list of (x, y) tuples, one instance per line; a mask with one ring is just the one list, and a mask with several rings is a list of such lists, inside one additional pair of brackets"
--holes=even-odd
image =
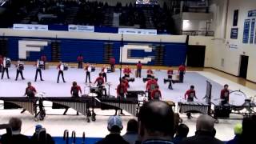
[[(95, 78), (98, 77), (99, 69), (96, 69), (94, 73), (91, 74), (91, 80), (94, 82)], [(17, 82), (14, 81), (16, 70), (14, 67), (10, 69), (10, 80), (6, 77), (0, 81), (0, 97), (22, 97), (25, 92), (26, 82), (32, 82), (32, 85), (38, 90), (38, 92), (45, 92), (46, 96), (50, 97), (70, 97), (70, 86), (73, 81), (78, 82), (78, 85), (82, 87), (82, 92), (88, 94), (89, 88), (85, 84), (85, 72), (84, 70), (78, 70), (76, 68), (70, 68), (70, 70), (65, 71), (66, 83), (57, 83), (58, 70), (56, 67), (50, 67), (49, 70), (42, 71), (42, 77), (44, 82), (34, 82), (35, 68), (33, 66), (26, 66), (24, 70), (24, 77), (26, 80), (22, 81), (19, 79)], [(190, 85), (195, 86), (195, 90), (198, 96), (198, 102), (203, 102), (203, 97), (206, 94), (206, 80), (210, 81), (213, 85), (212, 95), (213, 102), (218, 103), (218, 97), (220, 90), (224, 84), (230, 85), (230, 90), (242, 90), (248, 98), (254, 96), (255, 90), (251, 90), (246, 86), (242, 86), (237, 82), (234, 82), (227, 78), (219, 76), (209, 71), (188, 71), (185, 75), (184, 83), (174, 84), (174, 90), (168, 90), (167, 84), (163, 83), (163, 78), (166, 78), (166, 70), (155, 70), (156, 77), (158, 78), (158, 84), (162, 90), (162, 96), (164, 100), (180, 102), (184, 97), (184, 93), (189, 89)], [(142, 71), (142, 75), (146, 76), (146, 71)], [(115, 73), (107, 74), (108, 82), (111, 82), (110, 94), (115, 96), (115, 88), (118, 85), (119, 70)], [(38, 78), (39, 79), (39, 78)], [(146, 83), (142, 82), (142, 78), (136, 78), (135, 82), (130, 82), (130, 90), (145, 90)], [(241, 98), (230, 98), (230, 102), (239, 105), (243, 101)], [(47, 102), (46, 106), (50, 106), (51, 103)], [(96, 122), (87, 123), (85, 116), (76, 116), (74, 110), (69, 110), (68, 115), (55, 115), (62, 114), (63, 110), (52, 110), (50, 107), (46, 107), (46, 119), (43, 122), (34, 122), (34, 118), (28, 112), (25, 114), (20, 114), (21, 110), (0, 110), (0, 123), (8, 122), (10, 117), (22, 118), (23, 126), (22, 133), (26, 135), (32, 135), (34, 133), (34, 126), (41, 123), (46, 130), (54, 136), (62, 136), (64, 130), (75, 130), (78, 137), (82, 137), (82, 132), (86, 132), (86, 137), (104, 137), (108, 134), (106, 129), (107, 116), (114, 114), (114, 110), (96, 110), (97, 120)], [(177, 112), (177, 110), (176, 110)], [(53, 114), (53, 115), (51, 115)], [(69, 115), (71, 114), (71, 115)], [(193, 135), (195, 131), (195, 121), (198, 114), (194, 115), (194, 118), (187, 119), (186, 114), (181, 114), (183, 122), (190, 127), (189, 135)], [(234, 118), (241, 118), (241, 116), (234, 114), (231, 115)], [(126, 113), (126, 116), (122, 116), (124, 129), (122, 134), (126, 131), (126, 123), (130, 118), (130, 114)], [(216, 137), (226, 141), (234, 137), (233, 126), (241, 122), (240, 120), (220, 120), (216, 124), (215, 128), (217, 130)], [(1, 131), (2, 133), (2, 131)]]

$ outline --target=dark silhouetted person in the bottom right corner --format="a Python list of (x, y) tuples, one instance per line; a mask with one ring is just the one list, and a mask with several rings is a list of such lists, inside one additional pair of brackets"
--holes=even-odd
[(256, 115), (252, 115), (242, 120), (242, 135), (238, 140), (238, 144), (247, 144), (255, 142), (255, 134), (252, 130), (256, 129)]

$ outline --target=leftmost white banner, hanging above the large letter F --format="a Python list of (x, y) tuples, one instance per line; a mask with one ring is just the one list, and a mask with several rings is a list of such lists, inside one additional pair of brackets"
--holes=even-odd
[(48, 30), (48, 25), (14, 24), (14, 30)]

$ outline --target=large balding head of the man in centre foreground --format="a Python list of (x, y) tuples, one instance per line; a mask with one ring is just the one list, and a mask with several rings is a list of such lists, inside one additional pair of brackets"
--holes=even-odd
[(142, 144), (173, 144), (174, 112), (167, 102), (146, 102), (139, 111), (138, 126)]

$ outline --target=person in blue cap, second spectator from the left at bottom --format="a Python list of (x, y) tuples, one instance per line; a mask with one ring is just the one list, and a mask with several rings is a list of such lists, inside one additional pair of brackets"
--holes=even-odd
[(35, 126), (35, 132), (33, 136), (30, 138), (31, 143), (36, 144), (54, 144), (54, 139), (50, 136), (50, 134), (46, 133), (46, 129), (42, 127), (42, 125)]

